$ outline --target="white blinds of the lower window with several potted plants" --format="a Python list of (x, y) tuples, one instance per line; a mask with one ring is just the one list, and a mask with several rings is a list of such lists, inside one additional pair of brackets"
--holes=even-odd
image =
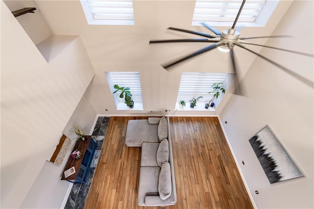
[(213, 97), (212, 84), (223, 82), (226, 79), (226, 73), (182, 73), (177, 103), (184, 100), (188, 106), (189, 100), (203, 96), (200, 103), (208, 103)]

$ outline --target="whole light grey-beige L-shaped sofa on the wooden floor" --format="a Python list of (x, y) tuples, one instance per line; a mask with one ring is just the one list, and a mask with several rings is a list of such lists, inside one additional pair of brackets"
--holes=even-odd
[(138, 205), (175, 205), (177, 192), (169, 117), (129, 120), (126, 145), (141, 147)]

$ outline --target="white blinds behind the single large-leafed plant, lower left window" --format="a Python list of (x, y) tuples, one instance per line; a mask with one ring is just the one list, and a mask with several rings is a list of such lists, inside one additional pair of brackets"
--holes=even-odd
[[(112, 86), (117, 84), (120, 87), (130, 87), (133, 102), (142, 103), (142, 90), (139, 72), (109, 72)], [(124, 98), (120, 98), (121, 91), (118, 91), (117, 96), (119, 102), (125, 102)]]

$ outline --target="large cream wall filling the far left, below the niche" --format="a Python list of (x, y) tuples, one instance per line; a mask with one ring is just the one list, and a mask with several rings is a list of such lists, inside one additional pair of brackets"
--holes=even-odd
[(1, 3), (1, 208), (18, 208), (89, 85), (80, 38), (49, 64)]

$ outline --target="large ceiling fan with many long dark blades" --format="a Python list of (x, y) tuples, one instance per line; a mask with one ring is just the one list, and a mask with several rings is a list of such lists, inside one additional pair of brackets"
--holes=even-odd
[(215, 48), (218, 47), (223, 47), (223, 48), (227, 48), (229, 49), (229, 53), (230, 53), (230, 57), (231, 57), (231, 61), (232, 61), (232, 67), (233, 67), (233, 71), (235, 73), (235, 92), (234, 94), (237, 95), (243, 95), (243, 87), (241, 87), (239, 85), (239, 78), (238, 76), (236, 76), (237, 73), (237, 67), (235, 64), (235, 55), (234, 55), (234, 47), (238, 46), (244, 50), (247, 50), (248, 52), (254, 53), (257, 56), (263, 58), (264, 60), (272, 63), (273, 65), (279, 67), (280, 69), (284, 70), (285, 72), (287, 72), (288, 74), (290, 74), (291, 76), (301, 80), (302, 82), (306, 83), (307, 85), (314, 87), (314, 82), (304, 78), (296, 73), (294, 73), (293, 71), (289, 70), (288, 68), (280, 65), (279, 63), (268, 59), (267, 57), (254, 52), (248, 48), (246, 48), (246, 46), (244, 45), (255, 45), (255, 46), (261, 46), (261, 47), (266, 47), (266, 48), (271, 48), (271, 49), (276, 49), (276, 50), (282, 50), (285, 52), (292, 52), (292, 53), (296, 53), (296, 54), (301, 54), (301, 55), (305, 55), (305, 56), (310, 56), (310, 57), (314, 57), (314, 54), (309, 54), (309, 53), (304, 53), (304, 52), (296, 52), (296, 51), (291, 51), (291, 50), (286, 50), (286, 49), (281, 49), (281, 48), (276, 48), (276, 47), (271, 47), (271, 46), (264, 46), (264, 45), (259, 45), (259, 44), (254, 44), (254, 43), (250, 43), (246, 40), (248, 39), (255, 39), (255, 38), (282, 38), (282, 37), (292, 37), (289, 35), (274, 35), (274, 36), (258, 36), (258, 37), (246, 37), (246, 38), (242, 38), (240, 37), (240, 33), (239, 31), (237, 31), (235, 29), (235, 24), (240, 16), (240, 13), (243, 9), (243, 6), (245, 4), (246, 0), (242, 1), (242, 4), (239, 8), (239, 11), (235, 17), (235, 22), (233, 23), (233, 26), (231, 28), (229, 28), (228, 30), (224, 30), (222, 32), (218, 31), (216, 28), (214, 28), (213, 26), (209, 26), (206, 23), (202, 23), (203, 26), (205, 26), (206, 28), (208, 28), (210, 31), (212, 31), (214, 33), (214, 35), (210, 35), (208, 33), (203, 33), (203, 32), (199, 32), (199, 31), (192, 31), (192, 30), (186, 30), (186, 29), (180, 29), (180, 28), (175, 28), (175, 27), (169, 27), (168, 29), (171, 30), (177, 30), (177, 31), (181, 31), (181, 32), (185, 32), (185, 33), (191, 33), (191, 34), (196, 34), (199, 36), (203, 36), (206, 38), (192, 38), (192, 39), (171, 39), (171, 40), (151, 40), (150, 44), (153, 43), (175, 43), (175, 42), (209, 42), (209, 43), (213, 43), (207, 47), (204, 47), (196, 52), (193, 52), (191, 54), (185, 55), (182, 58), (177, 59), (176, 61), (170, 62), (168, 64), (162, 65), (163, 68), (165, 69), (169, 69), (170, 67), (173, 67), (187, 59), (190, 59), (194, 56), (197, 56), (199, 54), (202, 54), (204, 52), (209, 52), (210, 50), (213, 50)]

